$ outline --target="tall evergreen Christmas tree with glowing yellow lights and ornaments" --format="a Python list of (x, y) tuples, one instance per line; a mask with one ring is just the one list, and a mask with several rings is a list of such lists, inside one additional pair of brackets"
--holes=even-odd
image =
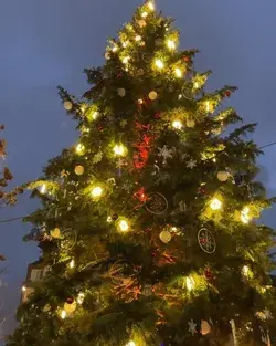
[(81, 99), (60, 87), (79, 140), (28, 185), (25, 221), (49, 272), (9, 345), (270, 344), (273, 230), (256, 124), (204, 92), (197, 50), (146, 2), (87, 69)]

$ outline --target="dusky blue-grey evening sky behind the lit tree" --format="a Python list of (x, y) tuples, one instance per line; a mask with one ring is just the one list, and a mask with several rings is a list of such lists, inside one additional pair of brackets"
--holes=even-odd
[[(255, 141), (275, 141), (276, 2), (275, 0), (157, 0), (176, 18), (181, 48), (197, 48), (195, 67), (212, 69), (210, 90), (238, 86), (227, 102), (246, 122), (258, 122)], [(100, 65), (106, 39), (130, 20), (138, 0), (9, 0), (0, 11), (0, 109), (8, 140), (7, 164), (19, 185), (36, 179), (47, 159), (77, 138), (74, 123), (56, 93), (61, 84), (76, 96), (86, 90), (84, 67)], [(259, 159), (261, 179), (276, 195), (276, 146)], [(36, 202), (20, 198), (2, 207), (0, 220), (25, 216)], [(274, 212), (276, 208), (274, 209)], [(264, 216), (276, 226), (273, 210)], [(3, 334), (12, 328), (26, 265), (36, 260), (34, 244), (23, 243), (31, 229), (20, 221), (0, 223), (0, 252), (8, 274), (0, 289)], [(3, 286), (4, 283), (7, 286)]]

